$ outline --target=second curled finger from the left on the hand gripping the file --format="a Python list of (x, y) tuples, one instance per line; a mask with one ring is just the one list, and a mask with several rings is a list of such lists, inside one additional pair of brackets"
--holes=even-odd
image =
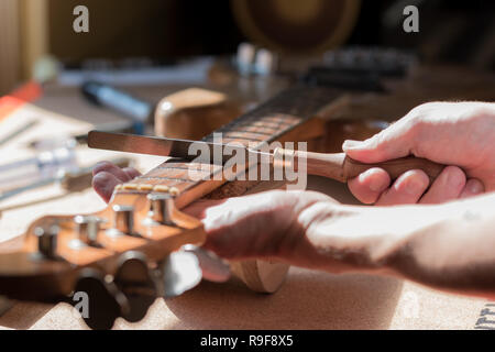
[(411, 169), (400, 175), (394, 185), (385, 190), (376, 201), (377, 206), (411, 205), (419, 201), (428, 188), (429, 178), (420, 169)]

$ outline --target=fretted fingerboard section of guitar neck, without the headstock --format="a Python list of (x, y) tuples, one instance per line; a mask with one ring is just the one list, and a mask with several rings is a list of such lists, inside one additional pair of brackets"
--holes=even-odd
[[(217, 133), (221, 133), (223, 143), (235, 142), (256, 146), (278, 141), (290, 131), (301, 127), (310, 118), (316, 117), (336, 97), (336, 90), (297, 86), (284, 90), (265, 103), (216, 130), (205, 136), (204, 141), (213, 141)], [(118, 187), (116, 191), (119, 194), (145, 194), (173, 189), (173, 193), (178, 195), (176, 206), (183, 208), (221, 186), (224, 180), (211, 177), (221, 169), (222, 167), (219, 165), (205, 167), (205, 165), (172, 158), (131, 183)], [(195, 180), (190, 177), (191, 173), (196, 173)], [(207, 180), (198, 182), (198, 178)]]

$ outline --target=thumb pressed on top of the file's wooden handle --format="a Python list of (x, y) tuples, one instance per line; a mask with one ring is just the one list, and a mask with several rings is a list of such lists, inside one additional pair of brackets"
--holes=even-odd
[(411, 154), (414, 138), (408, 124), (397, 121), (365, 141), (348, 140), (342, 150), (362, 163), (381, 163)]

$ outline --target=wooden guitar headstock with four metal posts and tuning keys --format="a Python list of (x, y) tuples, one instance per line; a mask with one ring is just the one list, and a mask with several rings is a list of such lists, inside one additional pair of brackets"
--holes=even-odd
[(161, 185), (120, 185), (102, 211), (37, 219), (19, 249), (0, 255), (0, 295), (77, 305), (72, 297), (82, 292), (90, 327), (140, 320), (167, 296), (170, 256), (205, 241), (201, 222), (176, 208), (177, 196)]

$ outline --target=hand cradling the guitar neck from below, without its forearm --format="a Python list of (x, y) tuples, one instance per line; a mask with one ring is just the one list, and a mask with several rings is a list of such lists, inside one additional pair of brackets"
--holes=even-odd
[[(134, 168), (119, 168), (109, 163), (98, 163), (94, 168), (92, 185), (108, 202), (113, 188), (139, 176)], [(204, 222), (207, 240), (204, 248), (224, 258), (278, 258), (292, 264), (311, 266), (310, 245), (304, 241), (310, 219), (319, 212), (310, 211), (317, 202), (324, 201), (324, 211), (337, 202), (312, 191), (274, 190), (221, 200), (200, 199), (185, 209)], [(306, 243), (306, 244), (304, 244)], [(207, 279), (216, 280), (215, 273), (202, 267)]]

